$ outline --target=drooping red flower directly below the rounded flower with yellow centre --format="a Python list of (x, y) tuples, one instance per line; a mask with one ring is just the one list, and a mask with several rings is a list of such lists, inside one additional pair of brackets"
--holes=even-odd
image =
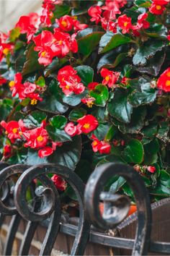
[(104, 140), (100, 141), (95, 137), (94, 135), (91, 136), (91, 139), (94, 141), (91, 143), (92, 149), (94, 153), (98, 152), (100, 154), (109, 154), (111, 150), (111, 145), (109, 143), (105, 142)]

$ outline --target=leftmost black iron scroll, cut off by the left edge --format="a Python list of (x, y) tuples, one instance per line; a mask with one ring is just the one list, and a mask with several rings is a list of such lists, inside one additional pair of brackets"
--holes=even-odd
[[(22, 174), (29, 166), (23, 164), (17, 164), (14, 166), (8, 166), (1, 170), (0, 172), (0, 190), (3, 188), (7, 179), (14, 174)], [(10, 191), (11, 192), (11, 191)], [(6, 197), (6, 196), (5, 196)], [(4, 215), (14, 215), (17, 214), (15, 206), (6, 206), (4, 204), (4, 196), (0, 198), (0, 211)]]

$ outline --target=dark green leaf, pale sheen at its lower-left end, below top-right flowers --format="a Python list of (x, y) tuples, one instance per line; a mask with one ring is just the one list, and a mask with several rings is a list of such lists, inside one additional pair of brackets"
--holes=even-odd
[(145, 65), (147, 60), (156, 54), (156, 51), (161, 51), (165, 43), (161, 40), (148, 40), (140, 46), (133, 56), (134, 65)]

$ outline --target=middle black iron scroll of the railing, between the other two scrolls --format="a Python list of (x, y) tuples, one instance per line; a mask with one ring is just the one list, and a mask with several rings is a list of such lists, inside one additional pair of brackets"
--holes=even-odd
[[(27, 187), (32, 182), (33, 179), (42, 179), (42, 183), (44, 184), (44, 177), (47, 174), (57, 174), (63, 177), (71, 187), (73, 187), (76, 192), (76, 196), (79, 200), (79, 208), (80, 208), (80, 221), (79, 228), (76, 233), (76, 237), (73, 243), (73, 247), (71, 250), (71, 255), (83, 255), (86, 247), (87, 240), (89, 238), (89, 222), (86, 221), (85, 213), (84, 213), (84, 184), (71, 169), (60, 166), (58, 164), (42, 164), (38, 166), (34, 166), (28, 168), (27, 171), (24, 171), (24, 174), (19, 177), (15, 191), (14, 191), (14, 202), (17, 206), (17, 210), (22, 215), (23, 218), (30, 221), (42, 221), (45, 218), (48, 218), (51, 213), (55, 218), (60, 216), (61, 212), (59, 212), (58, 204), (56, 198), (56, 189), (54, 189), (54, 185), (52, 186), (51, 182), (44, 188), (43, 195), (46, 203), (40, 209), (38, 213), (31, 211), (30, 208), (27, 207), (27, 201), (25, 199), (25, 195), (27, 192)], [(50, 249), (53, 248), (52, 242), (55, 242), (55, 234), (56, 228), (53, 225), (53, 220), (55, 219), (52, 216), (52, 221), (50, 221), (50, 226), (48, 227), (47, 235), (45, 236), (45, 240), (42, 244), (42, 249), (40, 251), (40, 255), (48, 255), (50, 253)], [(55, 222), (57, 222), (55, 220)], [(59, 225), (59, 218), (58, 218)], [(52, 247), (51, 247), (52, 245)], [(50, 247), (50, 249), (48, 248)], [(46, 249), (45, 249), (46, 248)]]

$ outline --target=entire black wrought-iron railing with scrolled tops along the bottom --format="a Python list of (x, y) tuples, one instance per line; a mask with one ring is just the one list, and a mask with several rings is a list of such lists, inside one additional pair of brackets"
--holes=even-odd
[[(12, 216), (3, 255), (12, 255), (12, 244), (22, 219), (27, 221), (27, 226), (19, 255), (28, 255), (37, 226), (45, 220), (48, 221), (48, 230), (40, 255), (50, 255), (59, 231), (75, 237), (71, 255), (84, 255), (88, 242), (132, 249), (132, 255), (147, 255), (148, 252), (170, 255), (170, 243), (151, 240), (152, 211), (148, 192), (139, 174), (130, 166), (121, 163), (99, 166), (89, 177), (86, 188), (73, 171), (57, 164), (8, 166), (0, 163), (0, 170), (0, 227), (5, 216)], [(69, 221), (62, 223), (61, 198), (48, 174), (62, 176), (76, 193), (79, 200), (77, 226)], [(130, 208), (130, 201), (125, 195), (104, 192), (105, 184), (115, 175), (126, 179), (135, 196), (138, 216), (135, 239), (106, 234), (106, 231), (124, 221)], [(13, 179), (10, 179), (12, 176)], [(41, 184), (37, 188), (35, 179), (40, 180)], [(33, 199), (31, 203), (27, 200), (27, 192)], [(103, 213), (99, 210), (101, 201), (104, 203)]]

